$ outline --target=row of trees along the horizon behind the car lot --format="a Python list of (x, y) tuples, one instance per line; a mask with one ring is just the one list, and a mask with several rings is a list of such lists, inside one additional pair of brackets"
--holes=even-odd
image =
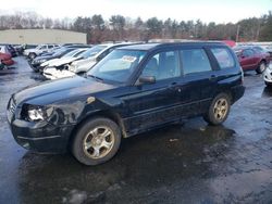
[(122, 15), (112, 15), (104, 20), (95, 14), (89, 17), (78, 16), (74, 20), (52, 20), (35, 12), (17, 12), (12, 15), (0, 14), (0, 29), (54, 28), (87, 34), (88, 43), (103, 41), (140, 40), (154, 38), (202, 39), (235, 41), (272, 41), (272, 11), (261, 17), (245, 18), (236, 24), (203, 23), (157, 17), (143, 21)]

